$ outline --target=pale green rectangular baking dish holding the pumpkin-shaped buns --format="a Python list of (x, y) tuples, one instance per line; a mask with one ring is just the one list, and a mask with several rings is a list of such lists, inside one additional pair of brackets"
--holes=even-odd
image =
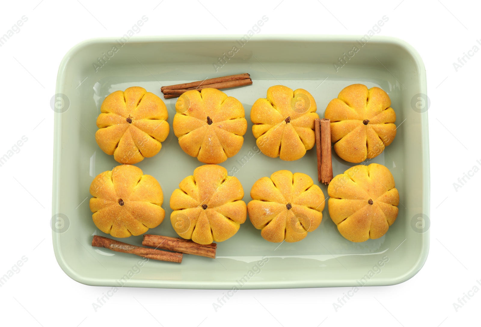
[[(84, 41), (68, 51), (60, 64), (51, 103), (55, 111), (52, 238), (63, 271), (88, 285), (192, 289), (359, 287), (397, 284), (414, 276), (429, 250), (425, 68), (416, 50), (404, 41), (362, 38), (101, 38)], [(315, 149), (288, 162), (266, 157), (255, 146), (250, 109), (257, 98), (266, 97), (269, 86), (308, 90), (321, 117), (329, 101), (347, 85), (379, 86), (389, 94), (396, 112), (397, 135), (384, 152), (368, 162), (388, 167), (399, 190), (399, 215), (387, 234), (362, 243), (347, 241), (329, 218), (326, 206), (319, 228), (296, 243), (267, 242), (247, 219), (236, 235), (218, 244), (216, 259), (184, 255), (182, 264), (144, 262), (136, 255), (93, 248), (93, 234), (109, 235), (92, 222), (89, 185), (97, 174), (118, 165), (113, 156), (100, 150), (94, 138), (103, 99), (130, 86), (142, 86), (162, 97), (162, 85), (236, 73), (250, 73), (253, 85), (225, 92), (242, 102), (249, 126), (240, 152), (220, 165), (229, 172), (238, 170), (234, 176), (243, 185), (246, 203), (251, 200), (253, 183), (276, 170), (303, 172), (317, 180)], [(175, 102), (165, 100), (171, 126)], [(160, 153), (137, 164), (160, 182), (165, 197), (166, 218), (148, 233), (177, 236), (169, 221), (170, 194), (200, 165), (181, 150), (172, 128)], [(352, 165), (333, 152), (334, 175)], [(327, 187), (320, 187), (327, 196)], [(118, 240), (140, 245), (142, 236)]]

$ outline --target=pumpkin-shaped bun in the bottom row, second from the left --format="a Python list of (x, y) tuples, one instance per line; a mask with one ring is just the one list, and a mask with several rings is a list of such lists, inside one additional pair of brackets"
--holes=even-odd
[(184, 239), (199, 244), (232, 237), (247, 218), (244, 190), (224, 167), (203, 165), (184, 178), (170, 197), (172, 227)]

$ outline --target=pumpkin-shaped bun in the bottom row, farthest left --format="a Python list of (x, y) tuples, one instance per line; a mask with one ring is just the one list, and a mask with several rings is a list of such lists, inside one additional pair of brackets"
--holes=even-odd
[(114, 237), (143, 234), (165, 217), (159, 182), (135, 166), (100, 173), (90, 184), (90, 194), (95, 226)]

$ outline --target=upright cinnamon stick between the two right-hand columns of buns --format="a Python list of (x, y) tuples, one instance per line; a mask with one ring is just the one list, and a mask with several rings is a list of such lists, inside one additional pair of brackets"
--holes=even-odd
[(317, 118), (314, 121), (314, 127), (316, 133), (317, 180), (327, 185), (333, 178), (330, 120)]

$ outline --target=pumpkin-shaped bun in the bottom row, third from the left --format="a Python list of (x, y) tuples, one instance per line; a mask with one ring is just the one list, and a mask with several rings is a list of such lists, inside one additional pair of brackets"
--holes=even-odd
[(249, 218), (269, 242), (297, 242), (319, 227), (324, 194), (308, 175), (279, 170), (251, 189)]

